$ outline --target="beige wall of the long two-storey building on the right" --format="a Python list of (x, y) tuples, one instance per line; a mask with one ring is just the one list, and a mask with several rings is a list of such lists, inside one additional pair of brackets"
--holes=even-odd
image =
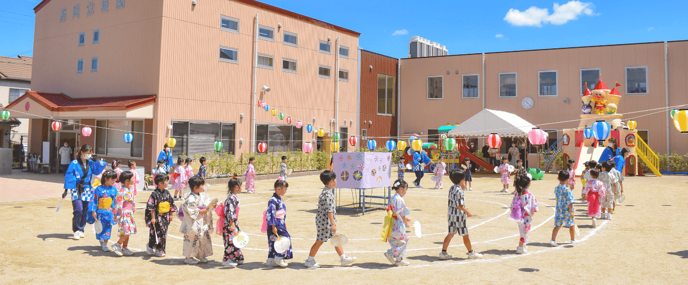
[[(669, 55), (669, 106), (688, 104), (687, 41), (668, 43)], [(656, 111), (632, 113), (666, 106), (664, 43), (640, 43), (599, 47), (573, 47), (523, 52), (485, 54), (484, 89), (482, 87), (482, 54), (441, 56), (433, 58), (405, 58), (401, 63), (401, 114), (422, 113), (418, 116), (400, 116), (401, 133), (420, 133), (437, 129), (445, 124), (461, 124), (482, 110), (483, 90), (485, 108), (515, 113), (543, 129), (576, 128), (581, 114), (581, 69), (601, 69), (602, 80), (612, 89), (614, 82), (621, 84), (623, 96), (617, 113), (624, 121), (636, 118), (638, 130), (649, 130), (649, 146), (658, 153), (667, 151), (667, 112), (647, 115)], [(647, 95), (625, 94), (625, 67), (647, 66)], [(538, 71), (557, 70), (557, 97), (538, 96)], [(449, 74), (447, 74), (449, 71)], [(458, 71), (458, 73), (456, 73)], [(499, 73), (517, 73), (517, 98), (499, 98)], [(479, 98), (462, 99), (464, 74), (480, 74)], [(427, 98), (427, 77), (444, 77), (444, 99)], [(590, 85), (590, 84), (589, 84)], [(592, 87), (590, 87), (592, 89)], [(534, 101), (531, 109), (524, 109), (522, 100)], [(563, 100), (570, 100), (569, 104)], [(566, 122), (571, 121), (571, 122)], [(552, 122), (560, 122), (549, 124)], [(671, 151), (685, 154), (686, 137), (669, 128)]]

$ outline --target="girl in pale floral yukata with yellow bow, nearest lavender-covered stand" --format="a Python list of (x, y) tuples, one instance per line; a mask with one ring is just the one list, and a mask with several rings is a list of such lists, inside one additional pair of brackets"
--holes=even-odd
[(409, 237), (406, 235), (406, 227), (409, 227), (411, 220), (406, 218), (409, 213), (409, 208), (404, 202), (404, 195), (409, 189), (409, 184), (406, 181), (397, 179), (394, 181), (391, 189), (396, 191), (394, 197), (389, 202), (387, 211), (392, 212), (392, 228), (387, 242), (391, 245), (391, 249), (385, 251), (385, 258), (394, 264), (394, 266), (406, 266), (409, 262), (404, 260), (406, 255), (406, 246), (409, 244)]

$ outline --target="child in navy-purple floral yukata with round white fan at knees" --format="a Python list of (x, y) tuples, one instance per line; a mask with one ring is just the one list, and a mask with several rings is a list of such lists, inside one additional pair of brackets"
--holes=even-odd
[(287, 181), (275, 181), (275, 194), (268, 201), (268, 211), (266, 221), (268, 223), (268, 259), (265, 261), (267, 266), (287, 266), (288, 260), (293, 258), (292, 247), (283, 253), (275, 250), (275, 240), (279, 237), (291, 238), (287, 232), (287, 206), (282, 201), (282, 196), (287, 193), (289, 183)]

